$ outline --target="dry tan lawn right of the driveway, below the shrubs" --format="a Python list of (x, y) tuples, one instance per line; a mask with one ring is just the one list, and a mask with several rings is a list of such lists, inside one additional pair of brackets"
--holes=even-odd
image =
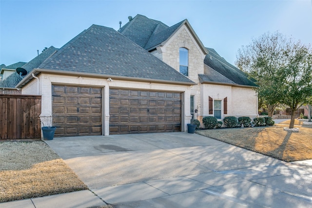
[(196, 133), (286, 162), (312, 159), (312, 128), (287, 132), (272, 127), (198, 130)]

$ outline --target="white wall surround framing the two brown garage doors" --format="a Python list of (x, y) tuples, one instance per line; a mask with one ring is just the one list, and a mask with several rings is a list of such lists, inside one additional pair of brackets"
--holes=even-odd
[[(172, 91), (182, 93), (182, 132), (187, 130), (187, 124), (190, 123), (190, 86), (162, 84), (143, 81), (129, 81), (117, 80), (107, 81), (108, 77), (81, 77), (81, 76), (66, 76), (66, 75), (52, 75), (40, 74), (40, 95), (41, 95), (41, 114), (40, 119), (47, 121), (51, 119), (52, 115), (52, 85), (78, 85), (78, 86), (94, 86), (101, 87), (103, 92), (102, 97), (102, 123), (103, 135), (109, 135), (109, 88), (126, 88), (126, 89), (141, 89), (141, 90), (157, 90), (157, 91)], [(30, 83), (23, 87), (22, 94), (30, 95), (29, 93), (37, 90), (37, 80), (33, 79)], [(170, 89), (170, 90), (168, 90)], [(34, 94), (35, 95), (35, 94)]]

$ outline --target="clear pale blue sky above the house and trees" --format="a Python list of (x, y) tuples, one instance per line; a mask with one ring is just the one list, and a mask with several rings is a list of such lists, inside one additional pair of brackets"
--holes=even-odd
[(92, 24), (117, 30), (137, 14), (169, 26), (188, 19), (204, 46), (232, 64), (266, 32), (312, 44), (312, 0), (0, 0), (0, 64), (28, 62)]

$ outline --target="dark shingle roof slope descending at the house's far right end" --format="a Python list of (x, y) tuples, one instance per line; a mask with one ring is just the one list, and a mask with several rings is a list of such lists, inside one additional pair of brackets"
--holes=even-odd
[(247, 75), (240, 71), (238, 68), (227, 62), (223, 57), (220, 57), (218, 53), (212, 48), (206, 48), (209, 52), (204, 59), (204, 64), (215, 70), (222, 76), (233, 81), (238, 85), (258, 87)]

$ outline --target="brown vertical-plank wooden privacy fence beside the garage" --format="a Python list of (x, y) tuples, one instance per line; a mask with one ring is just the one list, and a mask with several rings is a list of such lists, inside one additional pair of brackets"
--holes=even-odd
[(41, 137), (41, 95), (0, 95), (0, 139)]

